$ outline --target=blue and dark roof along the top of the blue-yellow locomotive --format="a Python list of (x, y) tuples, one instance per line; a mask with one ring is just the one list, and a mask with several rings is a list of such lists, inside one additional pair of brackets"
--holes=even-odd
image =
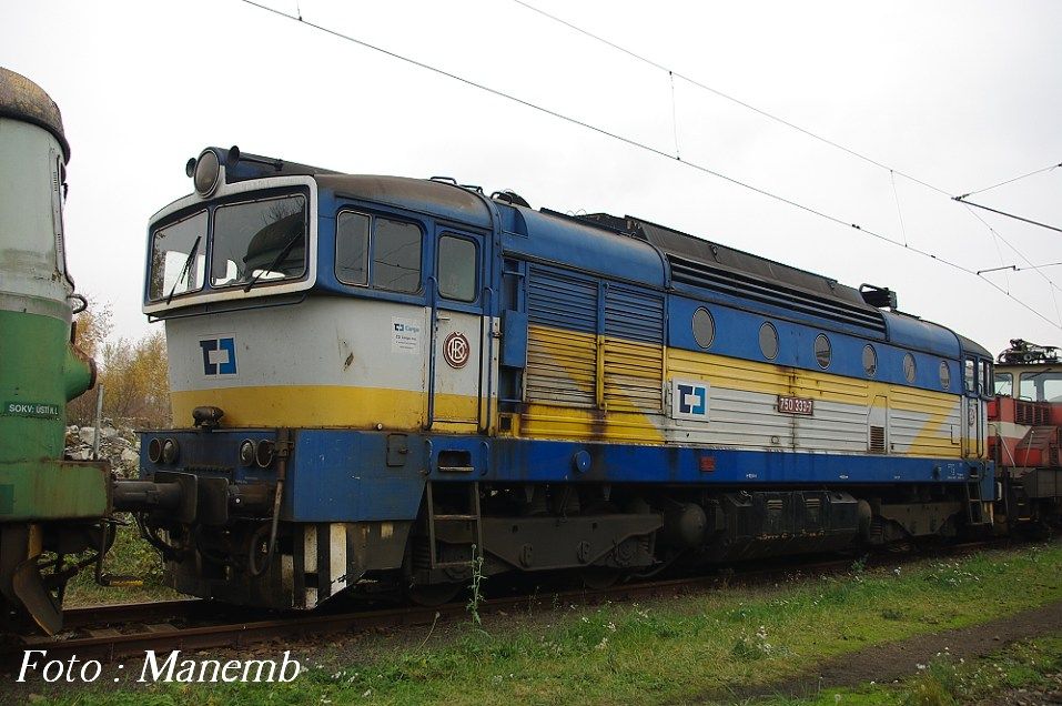
[[(408, 209), (482, 229), (494, 226), (488, 199), (456, 183), (345, 174), (275, 158), (242, 154), (237, 148), (227, 152), (210, 149), (218, 153), (222, 163), (226, 163), (230, 182), (304, 174), (337, 196)], [(738, 293), (739, 296), (751, 296), (763, 303), (862, 326), (899, 345), (951, 357), (957, 357), (960, 350), (991, 357), (983, 347), (945, 326), (869, 304), (859, 290), (832, 278), (644, 219), (630, 215), (620, 219), (606, 213), (573, 216), (549, 209), (536, 211), (523, 200), (495, 203), (508, 206), (503, 211), (509, 210), (513, 214), (513, 219), (508, 219), (503, 213), (505, 223), (502, 225), (504, 248), (509, 252), (547, 262), (563, 261), (585, 271), (657, 288), (666, 285), (670, 271), (672, 281), (711, 289), (721, 286), (720, 291)], [(720, 284), (721, 281), (729, 283)]]

